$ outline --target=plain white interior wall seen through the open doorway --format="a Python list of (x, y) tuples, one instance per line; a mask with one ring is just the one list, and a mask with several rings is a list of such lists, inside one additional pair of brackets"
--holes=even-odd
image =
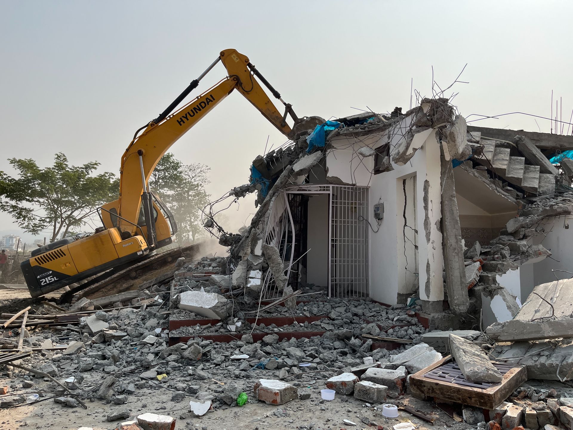
[(328, 286), (328, 194), (310, 196), (307, 223), (307, 282)]

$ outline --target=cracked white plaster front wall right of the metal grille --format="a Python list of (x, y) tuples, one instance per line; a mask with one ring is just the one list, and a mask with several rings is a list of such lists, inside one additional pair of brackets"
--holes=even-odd
[[(410, 117), (400, 127), (409, 124)], [(394, 132), (394, 134), (392, 134)], [(398, 255), (403, 253), (403, 205), (398, 207), (397, 190), (402, 190), (402, 179), (416, 175), (416, 226), (418, 230), (419, 295), (423, 300), (443, 300), (442, 272), (441, 186), (439, 143), (435, 131), (415, 135), (412, 146), (421, 147), (404, 166), (392, 163), (393, 171), (372, 174), (374, 157), (362, 158), (356, 151), (362, 146), (376, 148), (390, 140), (397, 148), (402, 133), (396, 130), (373, 136), (337, 136), (332, 139), (332, 150), (327, 155), (328, 176), (359, 186), (370, 186), (370, 206), (384, 202), (384, 219), (378, 233), (370, 232), (370, 296), (379, 302), (397, 303), (398, 277), (405, 276), (405, 267), (399, 265)], [(423, 139), (423, 140), (421, 140)], [(427, 182), (426, 182), (427, 181)], [(425, 190), (425, 183), (427, 189)], [(424, 197), (427, 194), (426, 205)], [(402, 196), (403, 197), (403, 196)], [(372, 209), (370, 210), (372, 213)], [(402, 218), (402, 222), (398, 220)], [(372, 216), (370, 219), (372, 220)], [(374, 228), (376, 226), (374, 225)], [(427, 230), (427, 231), (426, 231)], [(399, 240), (399, 237), (401, 240)]]

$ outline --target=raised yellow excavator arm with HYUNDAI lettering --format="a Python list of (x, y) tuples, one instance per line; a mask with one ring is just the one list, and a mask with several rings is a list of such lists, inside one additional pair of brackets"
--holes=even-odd
[[(197, 88), (199, 81), (219, 61), (222, 61), (223, 65), (225, 65), (228, 76), (178, 111), (171, 113), (193, 89)], [(284, 104), (284, 115), (278, 112), (256, 80), (256, 77), (269, 88), (274, 97)], [(151, 207), (151, 200), (146, 202), (146, 199), (150, 199), (147, 183), (161, 157), (177, 139), (189, 131), (191, 127), (233, 92), (234, 89), (237, 89), (238, 92), (245, 96), (282, 134), (289, 138), (293, 137), (293, 130), (286, 124), (286, 116), (291, 116), (295, 121), (295, 126), (299, 123), (299, 119), (293, 112), (291, 105), (282, 100), (280, 94), (250, 63), (248, 57), (234, 49), (223, 50), (217, 60), (198, 79), (191, 82), (189, 87), (158, 118), (138, 130), (139, 132), (144, 129), (140, 135), (136, 132), (134, 139), (125, 150), (121, 158), (118, 210), (119, 229), (124, 239), (136, 233), (136, 224), (142, 201), (146, 218), (149, 218), (148, 212), (150, 209), (148, 208)], [(150, 245), (154, 241), (151, 230), (148, 229), (147, 238)]]

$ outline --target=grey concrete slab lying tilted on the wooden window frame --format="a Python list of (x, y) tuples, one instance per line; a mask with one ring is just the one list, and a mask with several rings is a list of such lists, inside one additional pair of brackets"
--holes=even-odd
[(501, 382), (501, 373), (479, 346), (455, 334), (450, 334), (450, 349), (466, 380)]

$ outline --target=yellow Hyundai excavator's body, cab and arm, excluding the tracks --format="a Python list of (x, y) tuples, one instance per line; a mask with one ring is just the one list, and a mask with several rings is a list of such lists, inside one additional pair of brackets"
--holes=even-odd
[[(176, 107), (221, 61), (228, 76), (179, 110)], [(278, 112), (258, 78), (285, 107)], [(114, 270), (124, 270), (170, 244), (177, 232), (172, 213), (149, 188), (155, 166), (172, 144), (236, 89), (282, 134), (293, 138), (305, 130), (292, 105), (285, 103), (249, 58), (234, 49), (223, 50), (205, 72), (193, 80), (157, 118), (139, 128), (121, 158), (119, 198), (99, 208), (102, 227), (87, 237), (64, 239), (34, 249), (21, 269), (32, 297)], [(172, 113), (173, 112), (173, 113)], [(293, 128), (286, 123), (294, 121)]]

